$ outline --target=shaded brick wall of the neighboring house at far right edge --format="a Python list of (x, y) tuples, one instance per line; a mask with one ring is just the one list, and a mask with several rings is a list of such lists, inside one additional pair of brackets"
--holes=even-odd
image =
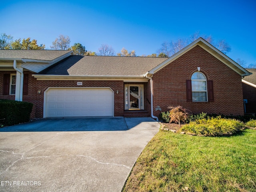
[(256, 113), (256, 88), (246, 83), (242, 85), (244, 99), (248, 100), (248, 104), (245, 104), (246, 113)]

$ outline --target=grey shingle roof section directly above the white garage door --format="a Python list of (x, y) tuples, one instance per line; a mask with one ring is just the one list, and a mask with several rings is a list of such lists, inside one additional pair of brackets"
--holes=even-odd
[(167, 58), (121, 56), (69, 56), (39, 74), (139, 76)]

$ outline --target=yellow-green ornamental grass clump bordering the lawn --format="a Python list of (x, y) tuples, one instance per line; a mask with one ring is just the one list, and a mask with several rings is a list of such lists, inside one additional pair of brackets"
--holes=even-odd
[(244, 124), (236, 119), (216, 118), (200, 119), (184, 125), (181, 131), (204, 136), (232, 135), (242, 129)]

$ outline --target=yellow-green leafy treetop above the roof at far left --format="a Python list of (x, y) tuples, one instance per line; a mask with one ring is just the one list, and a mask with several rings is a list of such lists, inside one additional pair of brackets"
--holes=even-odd
[(44, 44), (37, 44), (37, 40), (33, 39), (30, 41), (30, 37), (23, 39), (21, 42), (21, 39), (17, 39), (11, 44), (12, 49), (22, 49), (22, 50), (43, 50), (45, 48)]

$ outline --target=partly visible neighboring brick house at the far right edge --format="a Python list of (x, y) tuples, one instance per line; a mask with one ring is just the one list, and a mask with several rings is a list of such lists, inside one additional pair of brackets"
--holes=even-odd
[(243, 94), (245, 100), (245, 113), (256, 113), (256, 69), (246, 69), (252, 73), (242, 79)]

